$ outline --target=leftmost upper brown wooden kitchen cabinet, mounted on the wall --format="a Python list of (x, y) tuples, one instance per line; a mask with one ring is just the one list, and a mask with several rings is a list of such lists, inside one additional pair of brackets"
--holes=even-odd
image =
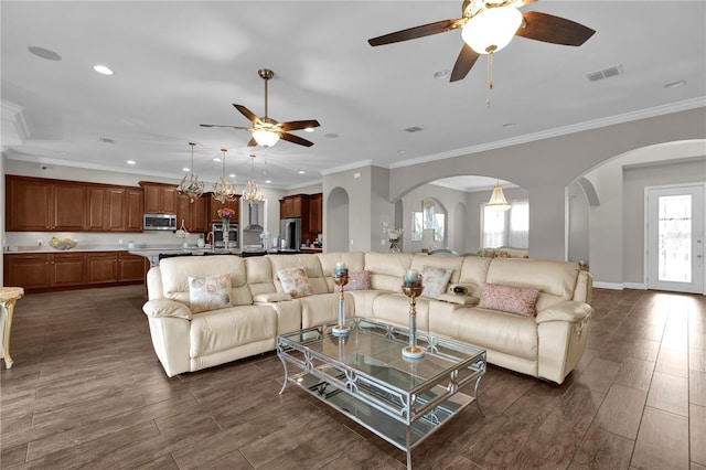
[(86, 185), (26, 177), (6, 177), (6, 231), (84, 229)]

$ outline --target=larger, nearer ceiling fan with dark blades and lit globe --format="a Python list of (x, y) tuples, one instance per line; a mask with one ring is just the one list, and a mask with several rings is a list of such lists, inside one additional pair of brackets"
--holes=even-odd
[(463, 47), (451, 72), (451, 82), (466, 78), (481, 54), (493, 54), (514, 35), (553, 44), (579, 46), (596, 31), (564, 18), (518, 8), (536, 0), (464, 0), (462, 18), (443, 20), (367, 40), (372, 46), (408, 41), (461, 29)]

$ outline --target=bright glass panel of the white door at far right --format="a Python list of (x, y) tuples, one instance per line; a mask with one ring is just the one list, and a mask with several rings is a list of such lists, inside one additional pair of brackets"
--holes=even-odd
[(692, 195), (660, 196), (657, 237), (661, 281), (692, 281)]

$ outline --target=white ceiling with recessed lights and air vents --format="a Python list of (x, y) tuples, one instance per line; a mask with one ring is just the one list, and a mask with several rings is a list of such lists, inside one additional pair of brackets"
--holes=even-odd
[[(254, 151), (256, 178), (291, 189), (322, 172), (394, 168), (704, 106), (704, 1), (528, 4), (522, 10), (564, 17), (597, 33), (580, 47), (515, 38), (494, 56), (490, 107), (483, 57), (463, 81), (434, 77), (452, 68), (459, 31), (367, 44), (373, 36), (460, 18), (460, 7), (461, 0), (3, 0), (2, 148), (11, 159), (181, 178), (193, 140), (203, 180), (221, 175), (213, 158), (225, 147), (227, 172), (240, 183), (250, 177), (247, 156)], [(30, 46), (62, 60), (41, 58)], [(95, 73), (96, 64), (115, 75)], [(586, 77), (611, 66), (623, 74)], [(269, 116), (318, 119), (315, 132), (293, 132), (313, 147), (280, 141), (253, 149), (245, 131), (199, 127), (247, 126), (233, 103), (261, 116), (263, 67), (275, 71)], [(664, 87), (677, 81), (686, 83)], [(413, 126), (421, 130), (404, 130)]]

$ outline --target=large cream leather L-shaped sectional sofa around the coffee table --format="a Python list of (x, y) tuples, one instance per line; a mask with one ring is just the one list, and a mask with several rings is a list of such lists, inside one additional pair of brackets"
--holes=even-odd
[[(449, 282), (438, 299), (417, 299), (419, 330), (482, 346), (492, 364), (559, 384), (586, 348), (592, 280), (571, 263), (360, 252), (190, 256), (163, 259), (148, 274), (143, 311), (164, 371), (173, 376), (272, 351), (280, 333), (334, 322), (339, 293), (332, 274), (339, 261), (370, 275), (370, 289), (345, 291), (349, 317), (407, 327), (405, 273), (441, 267), (451, 269)], [(292, 298), (284, 291), (278, 271), (297, 267), (304, 269), (312, 295)], [(192, 313), (189, 278), (224, 274), (232, 307)], [(486, 282), (489, 290), (537, 289), (536, 314), (479, 308)], [(454, 287), (466, 293), (453, 293)]]

